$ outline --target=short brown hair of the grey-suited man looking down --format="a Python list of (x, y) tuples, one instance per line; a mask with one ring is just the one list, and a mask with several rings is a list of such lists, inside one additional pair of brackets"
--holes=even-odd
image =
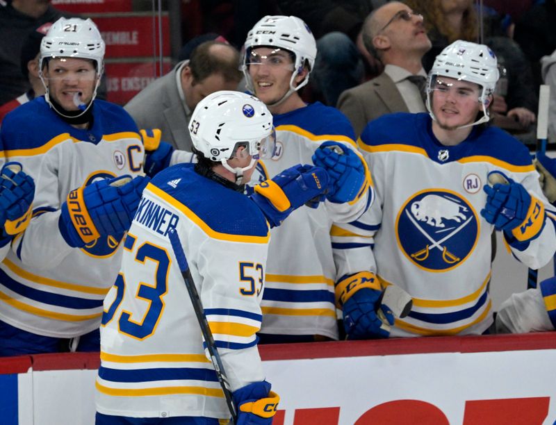
[[(231, 56), (221, 57), (214, 53), (213, 46), (224, 46), (230, 49)], [(213, 74), (222, 75), (224, 81), (239, 83), (242, 74), (239, 70), (239, 52), (229, 44), (216, 41), (207, 41), (199, 44), (191, 52), (188, 67), (191, 69), (193, 81), (203, 81)]]

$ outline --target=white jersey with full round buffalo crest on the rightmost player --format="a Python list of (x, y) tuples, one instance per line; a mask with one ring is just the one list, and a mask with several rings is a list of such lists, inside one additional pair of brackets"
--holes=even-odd
[(518, 140), (499, 128), (474, 128), (466, 140), (447, 147), (434, 138), (431, 122), (425, 113), (399, 113), (367, 125), (359, 147), (376, 201), (364, 221), (374, 234), (377, 276), (413, 297), (411, 313), (396, 319), (391, 335), (477, 335), (492, 323), (494, 229), (480, 215), (487, 175), (503, 172), (546, 208), (539, 237), (510, 247), (530, 267), (548, 263), (555, 251), (553, 208)]

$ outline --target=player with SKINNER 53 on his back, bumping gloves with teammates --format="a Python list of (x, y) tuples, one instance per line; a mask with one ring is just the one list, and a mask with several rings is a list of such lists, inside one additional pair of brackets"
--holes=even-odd
[(157, 424), (217, 425), (229, 418), (172, 250), (172, 229), (222, 358), (237, 424), (271, 424), (276, 412), (279, 397), (265, 381), (256, 347), (268, 222), (281, 222), (319, 197), (327, 173), (297, 165), (245, 196), (257, 159), (272, 156), (275, 143), (272, 115), (245, 93), (203, 99), (190, 133), (199, 163), (165, 169), (147, 185), (104, 301), (97, 425), (155, 418)]

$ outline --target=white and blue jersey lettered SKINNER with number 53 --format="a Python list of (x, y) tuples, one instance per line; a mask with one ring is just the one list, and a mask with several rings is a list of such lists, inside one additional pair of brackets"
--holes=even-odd
[(122, 269), (104, 301), (98, 412), (229, 417), (168, 239), (172, 228), (231, 389), (264, 379), (256, 332), (268, 224), (244, 194), (200, 176), (193, 165), (175, 165), (143, 192)]

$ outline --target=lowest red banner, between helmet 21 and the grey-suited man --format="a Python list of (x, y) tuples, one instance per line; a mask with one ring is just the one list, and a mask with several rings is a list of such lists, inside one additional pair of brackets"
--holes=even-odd
[[(125, 105), (133, 96), (138, 94), (158, 76), (158, 63), (125, 62), (106, 63), (107, 100), (119, 105)], [(163, 63), (163, 74), (170, 72), (171, 63)]]

